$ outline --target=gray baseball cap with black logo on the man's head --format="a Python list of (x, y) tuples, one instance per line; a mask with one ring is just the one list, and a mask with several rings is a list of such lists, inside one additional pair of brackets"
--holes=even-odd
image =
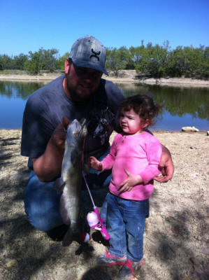
[(108, 75), (105, 69), (106, 48), (93, 36), (84, 36), (75, 41), (69, 58), (76, 66), (95, 69)]

